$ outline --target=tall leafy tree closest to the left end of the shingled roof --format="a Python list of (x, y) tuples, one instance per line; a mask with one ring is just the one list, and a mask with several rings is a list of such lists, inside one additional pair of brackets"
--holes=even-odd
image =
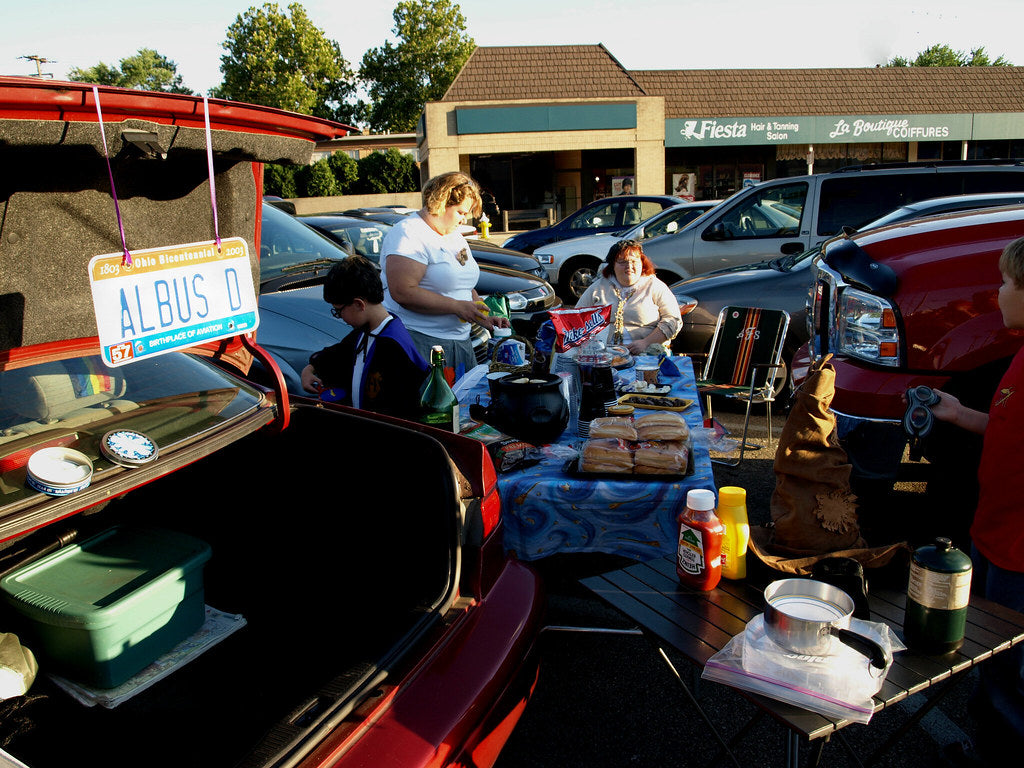
[(397, 44), (368, 50), (359, 78), (371, 97), (370, 129), (409, 132), (424, 104), (444, 95), (476, 43), (452, 0), (401, 0), (392, 16)]

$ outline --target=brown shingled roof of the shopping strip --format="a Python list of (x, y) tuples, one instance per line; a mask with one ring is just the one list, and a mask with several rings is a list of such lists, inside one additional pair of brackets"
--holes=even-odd
[(600, 44), (479, 47), (441, 100), (641, 96), (666, 118), (1024, 112), (1024, 67), (630, 72)]

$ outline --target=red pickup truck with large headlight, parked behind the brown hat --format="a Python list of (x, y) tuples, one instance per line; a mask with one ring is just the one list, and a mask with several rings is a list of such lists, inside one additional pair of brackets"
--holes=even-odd
[[(840, 441), (860, 479), (897, 479), (902, 394), (925, 384), (987, 411), (1020, 332), (996, 304), (1002, 248), (1024, 236), (1024, 207), (952, 214), (837, 238), (822, 249), (808, 312), (811, 355), (835, 355)], [(980, 440), (937, 424), (924, 449), (973, 482)], [(938, 473), (936, 473), (938, 474)], [(946, 479), (952, 482), (952, 475)]]

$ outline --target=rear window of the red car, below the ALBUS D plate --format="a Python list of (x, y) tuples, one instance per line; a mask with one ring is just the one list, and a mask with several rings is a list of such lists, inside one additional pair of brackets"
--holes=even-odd
[(111, 430), (141, 432), (164, 455), (262, 401), (259, 390), (183, 352), (120, 368), (94, 355), (0, 371), (2, 504), (36, 493), (25, 467), (42, 447), (80, 451), (99, 473), (114, 466), (99, 452)]

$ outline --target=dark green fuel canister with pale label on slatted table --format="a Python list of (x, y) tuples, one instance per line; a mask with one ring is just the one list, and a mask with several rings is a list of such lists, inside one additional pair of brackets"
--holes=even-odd
[(903, 639), (922, 653), (949, 653), (964, 644), (971, 597), (971, 558), (938, 538), (910, 562)]

